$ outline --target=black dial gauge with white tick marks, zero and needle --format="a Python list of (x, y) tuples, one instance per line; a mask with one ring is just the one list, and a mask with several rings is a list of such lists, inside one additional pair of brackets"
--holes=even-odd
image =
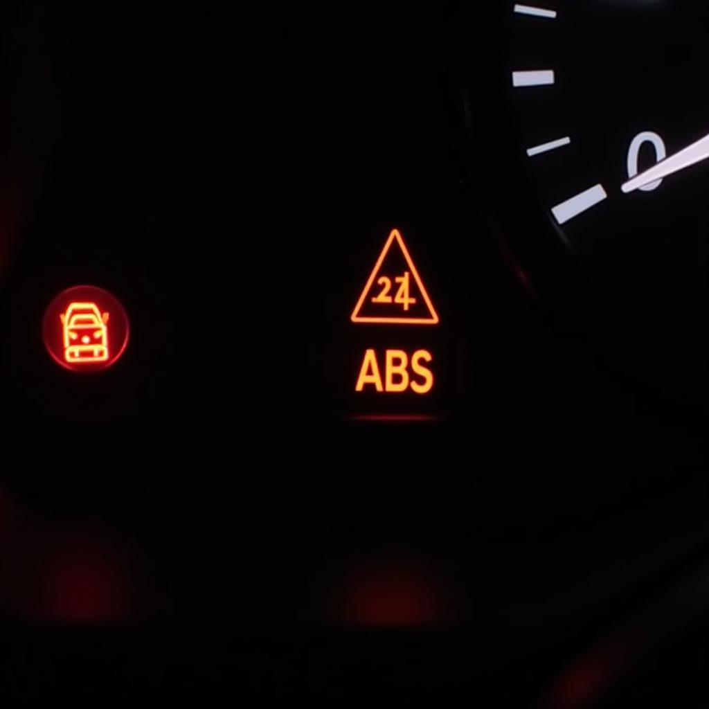
[[(700, 89), (707, 9), (682, 1), (496, 5), (484, 19), (471, 6), (468, 50), (494, 57), (490, 86), (509, 116), (500, 122), (495, 109), (471, 106), (478, 135), (480, 113), (505, 125), (486, 150), (500, 172), (491, 182), (506, 207), (498, 213), (509, 215), (506, 235), (527, 266), (535, 262), (532, 278), (559, 281), (564, 271), (567, 285), (583, 282), (586, 296), (604, 303), (594, 317), (627, 370), (698, 398), (709, 151), (703, 143), (682, 151), (708, 128)], [(501, 41), (481, 50), (484, 30)], [(479, 75), (468, 84), (475, 101)]]

